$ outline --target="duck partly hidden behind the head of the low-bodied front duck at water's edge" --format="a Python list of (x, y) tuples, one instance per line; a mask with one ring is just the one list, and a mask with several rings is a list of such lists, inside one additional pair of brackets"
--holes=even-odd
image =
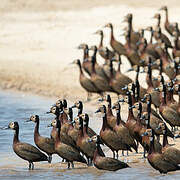
[[(94, 151), (96, 149), (96, 144), (88, 143), (88, 140), (90, 139), (90, 137), (88, 136), (88, 134), (86, 132), (86, 127), (83, 127), (82, 117), (81, 116), (76, 117), (75, 121), (78, 122), (78, 124), (79, 124), (77, 146), (80, 148), (80, 150), (86, 156), (86, 158), (88, 160), (88, 165), (92, 165), (92, 160), (93, 160), (93, 156), (94, 156)], [(102, 150), (101, 150), (101, 155), (105, 156)]]

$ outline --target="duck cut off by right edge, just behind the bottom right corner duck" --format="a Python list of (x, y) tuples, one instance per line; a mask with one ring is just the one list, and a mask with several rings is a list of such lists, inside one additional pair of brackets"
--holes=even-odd
[(167, 126), (165, 123), (159, 124), (158, 129), (163, 131), (163, 148), (162, 153), (166, 156), (170, 161), (175, 161), (175, 163), (180, 164), (180, 150), (176, 149), (168, 144), (167, 138)]

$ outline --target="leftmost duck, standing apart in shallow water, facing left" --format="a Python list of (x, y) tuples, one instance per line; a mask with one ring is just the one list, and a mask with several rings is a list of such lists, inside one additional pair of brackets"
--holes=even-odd
[(13, 139), (13, 150), (20, 158), (29, 162), (29, 170), (34, 169), (33, 162), (48, 161), (48, 157), (35, 146), (19, 141), (18, 122), (10, 122), (6, 129), (15, 130)]

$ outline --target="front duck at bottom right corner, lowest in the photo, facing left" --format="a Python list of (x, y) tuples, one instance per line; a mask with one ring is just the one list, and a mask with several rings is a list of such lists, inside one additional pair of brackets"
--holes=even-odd
[(167, 174), (170, 171), (180, 170), (178, 164), (173, 161), (169, 161), (162, 153), (158, 153), (154, 148), (154, 131), (152, 129), (147, 129), (144, 135), (150, 137), (150, 149), (148, 152), (148, 162), (149, 164), (160, 173)]

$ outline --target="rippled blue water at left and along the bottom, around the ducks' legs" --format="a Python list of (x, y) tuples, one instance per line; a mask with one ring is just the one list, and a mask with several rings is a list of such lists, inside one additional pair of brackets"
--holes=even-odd
[[(34, 123), (25, 120), (32, 114), (40, 115), (40, 133), (49, 136), (51, 129), (47, 125), (54, 118), (45, 112), (54, 103), (54, 99), (39, 96), (23, 95), (20, 93), (0, 91), (0, 127), (7, 126), (10, 121), (18, 121), (20, 125), (20, 140), (34, 144)], [(91, 112), (92, 114), (92, 112)], [(96, 125), (96, 126), (95, 126)], [(99, 124), (92, 123), (95, 127)], [(28, 163), (15, 155), (12, 149), (12, 130), (0, 130), (0, 179), (139, 179), (139, 180), (173, 180), (180, 179), (180, 172), (161, 175), (142, 159), (138, 163), (129, 163), (132, 168), (116, 172), (100, 171), (94, 167), (84, 167), (75, 164), (75, 169), (67, 170), (66, 164), (60, 164), (61, 159), (53, 155), (52, 165), (46, 162), (35, 163), (35, 170), (28, 171)]]

